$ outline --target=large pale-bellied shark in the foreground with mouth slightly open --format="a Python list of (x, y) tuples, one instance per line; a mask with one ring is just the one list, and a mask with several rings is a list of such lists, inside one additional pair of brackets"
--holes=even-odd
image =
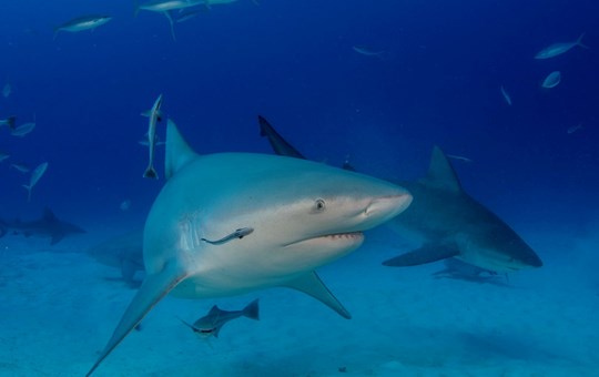
[(166, 126), (166, 184), (144, 228), (146, 276), (88, 376), (169, 293), (203, 298), (285, 286), (343, 317), (314, 269), (356, 249), (403, 212), (397, 185), (267, 154), (197, 155)]

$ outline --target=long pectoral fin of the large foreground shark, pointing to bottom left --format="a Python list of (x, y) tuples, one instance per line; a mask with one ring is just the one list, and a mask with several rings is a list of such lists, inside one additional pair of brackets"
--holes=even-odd
[(100, 363), (135, 328), (143, 317), (186, 276), (185, 268), (176, 261), (169, 262), (160, 273), (148, 274), (133, 300), (129, 304), (114, 333), (112, 333), (112, 337), (102, 350), (102, 354), (85, 376), (90, 376)]

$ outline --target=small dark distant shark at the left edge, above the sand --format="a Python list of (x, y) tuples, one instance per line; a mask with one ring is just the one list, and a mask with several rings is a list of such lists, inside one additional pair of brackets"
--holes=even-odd
[(0, 221), (0, 237), (8, 233), (22, 234), (26, 237), (49, 237), (50, 244), (55, 245), (68, 235), (85, 233), (81, 227), (58, 218), (54, 213), (45, 207), (40, 220), (30, 222)]

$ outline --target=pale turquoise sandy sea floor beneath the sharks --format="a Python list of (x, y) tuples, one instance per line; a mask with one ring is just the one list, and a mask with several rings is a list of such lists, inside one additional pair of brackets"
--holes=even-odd
[[(546, 265), (505, 286), (435, 278), (440, 264), (384, 267), (400, 243), (370, 235), (319, 271), (353, 319), (285, 288), (166, 297), (94, 376), (597, 376), (597, 240), (525, 235)], [(0, 240), (0, 375), (82, 376), (93, 365), (134, 294), (83, 253), (101, 241)], [(260, 322), (233, 320), (209, 342), (177, 319), (254, 298)]]

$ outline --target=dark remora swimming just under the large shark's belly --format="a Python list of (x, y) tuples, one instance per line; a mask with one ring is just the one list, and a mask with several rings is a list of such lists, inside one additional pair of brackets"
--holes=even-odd
[(209, 338), (211, 336), (217, 338), (221, 328), (230, 320), (240, 317), (247, 317), (250, 319), (258, 320), (258, 299), (256, 298), (247, 304), (243, 310), (227, 312), (222, 310), (219, 308), (219, 306), (214, 305), (212, 309), (210, 309), (209, 314), (197, 319), (193, 325), (181, 318), (179, 319), (202, 338)]

